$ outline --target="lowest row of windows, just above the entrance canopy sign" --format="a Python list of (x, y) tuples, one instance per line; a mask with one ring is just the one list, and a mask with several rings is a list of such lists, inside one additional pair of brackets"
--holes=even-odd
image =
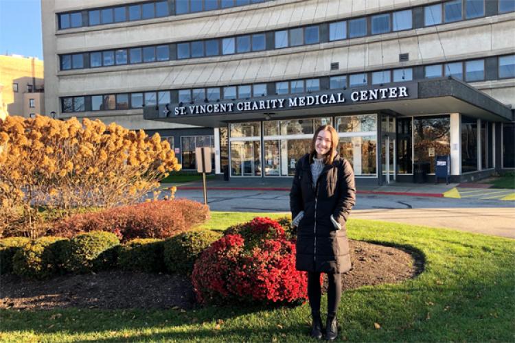
[[(515, 78), (515, 55), (499, 56), (498, 77)], [(370, 77), (369, 77), (370, 76)], [(448, 62), (424, 66), (424, 78), (440, 78), (453, 76), (466, 82), (485, 80), (485, 60), (466, 60), (464, 62)], [(369, 73), (336, 75), (329, 78), (329, 89), (366, 86), (371, 84), (386, 84), (389, 82), (404, 82), (413, 80), (413, 68), (388, 69)], [(275, 82), (275, 94), (309, 93), (321, 90), (320, 79), (290, 80)], [(91, 98), (91, 108), (88, 110), (122, 110), (169, 104), (170, 91), (122, 93), (111, 95), (92, 95), (91, 97), (62, 98), (62, 112), (81, 112), (86, 110), (85, 99)], [(211, 88), (180, 89), (178, 101), (185, 104), (190, 102), (215, 102), (220, 99), (247, 99), (268, 95), (267, 84), (245, 84), (241, 86), (225, 86)]]

